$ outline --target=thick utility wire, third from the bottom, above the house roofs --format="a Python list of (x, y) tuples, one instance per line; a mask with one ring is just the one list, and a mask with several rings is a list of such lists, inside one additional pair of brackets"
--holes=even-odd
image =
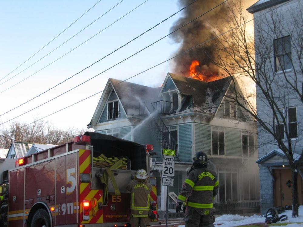
[[(195, 0), (194, 2), (196, 2), (196, 1), (197, 1), (197, 0)], [(146, 2), (146, 1), (145, 1), (145, 2)], [(143, 2), (143, 3), (145, 3), (145, 2)], [(194, 2), (191, 2), (189, 5), (193, 4)], [(142, 4), (143, 4), (143, 3), (142, 3)], [(142, 4), (141, 4), (141, 5), (142, 5)], [(182, 9), (180, 9), (178, 12), (181, 12), (182, 10), (184, 10), (185, 8), (187, 8), (189, 5), (185, 6), (185, 7), (184, 7), (184, 8), (182, 8)], [(139, 5), (139, 6), (140, 6), (140, 5)], [(138, 7), (139, 7), (139, 6), (138, 6)], [(160, 25), (160, 24), (161, 24), (161, 23), (163, 23), (164, 21), (166, 21), (166, 20), (168, 20), (169, 18), (173, 17), (173, 16), (174, 16), (174, 15), (176, 15), (178, 12), (176, 12), (176, 13), (172, 14), (172, 15), (171, 15), (171, 16), (169, 16), (168, 18), (164, 19), (163, 21), (161, 21), (160, 23), (158, 23), (157, 25), (155, 25), (154, 27), (149, 28), (148, 30), (146, 30), (145, 32), (143, 32), (141, 35), (139, 35), (139, 36), (137, 36), (137, 37), (133, 38), (131, 41), (128, 41), (126, 44), (124, 44), (124, 45), (122, 45), (121, 47), (119, 47), (119, 48), (115, 49), (115, 50), (114, 50), (114, 51), (112, 51), (111, 53), (109, 53), (109, 54), (105, 55), (105, 56), (104, 56), (103, 58), (101, 58), (100, 60), (98, 60), (98, 61), (96, 61), (95, 63), (93, 63), (93, 64), (89, 65), (88, 67), (86, 67), (86, 68), (82, 69), (81, 71), (79, 71), (78, 73), (76, 73), (76, 74), (72, 75), (71, 77), (68, 77), (67, 79), (65, 79), (64, 81), (60, 82), (59, 84), (56, 84), (55, 86), (53, 86), (53, 87), (49, 88), (48, 90), (46, 90), (46, 91), (42, 92), (42, 93), (41, 93), (41, 94), (39, 94), (39, 95), (37, 95), (37, 96), (33, 97), (32, 99), (30, 99), (30, 100), (28, 100), (28, 101), (26, 101), (26, 102), (24, 102), (24, 103), (20, 104), (19, 106), (15, 107), (15, 108), (13, 108), (13, 109), (11, 109), (11, 110), (8, 110), (8, 111), (7, 111), (7, 112), (5, 112), (5, 113), (2, 113), (2, 114), (0, 115), (0, 117), (1, 117), (2, 115), (6, 114), (6, 113), (8, 113), (8, 112), (10, 112), (10, 111), (12, 111), (12, 110), (15, 110), (15, 109), (16, 109), (16, 108), (18, 108), (18, 107), (21, 107), (22, 105), (24, 105), (24, 104), (28, 103), (29, 101), (32, 101), (33, 99), (35, 99), (35, 98), (37, 98), (37, 97), (41, 96), (42, 94), (45, 94), (45, 93), (46, 93), (46, 92), (48, 92), (49, 90), (52, 90), (53, 88), (57, 87), (58, 85), (60, 85), (60, 84), (64, 83), (65, 81), (67, 81), (67, 80), (71, 79), (71, 78), (72, 78), (72, 77), (74, 77), (75, 75), (77, 75), (77, 74), (79, 74), (79, 73), (83, 72), (84, 70), (86, 70), (86, 69), (88, 69), (89, 67), (93, 66), (93, 65), (94, 65), (94, 64), (96, 64), (97, 62), (99, 62), (99, 61), (101, 61), (102, 59), (104, 59), (104, 58), (108, 57), (109, 55), (111, 55), (111, 54), (115, 53), (115, 52), (116, 52), (116, 51), (118, 51), (119, 49), (123, 48), (123, 47), (124, 47), (124, 46), (126, 46), (127, 44), (129, 44), (129, 43), (131, 43), (132, 41), (134, 41), (135, 39), (137, 39), (137, 38), (139, 38), (140, 36), (144, 35), (144, 34), (145, 34), (145, 33), (147, 33), (148, 31), (150, 31), (151, 29), (153, 29), (153, 28), (157, 27), (158, 25)], [(121, 19), (121, 18), (120, 18), (120, 19)]]

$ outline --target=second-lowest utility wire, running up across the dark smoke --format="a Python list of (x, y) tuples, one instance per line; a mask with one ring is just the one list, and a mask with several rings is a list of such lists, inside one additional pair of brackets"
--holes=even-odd
[[(97, 75), (95, 75), (95, 76), (93, 76), (93, 77), (89, 78), (88, 80), (86, 80), (86, 81), (82, 82), (81, 84), (78, 84), (77, 86), (75, 86), (75, 87), (73, 87), (73, 88), (71, 88), (71, 89), (69, 89), (69, 90), (67, 90), (67, 91), (63, 92), (62, 94), (59, 94), (58, 96), (56, 96), (56, 97), (54, 97), (54, 98), (52, 98), (52, 99), (50, 99), (50, 100), (48, 100), (48, 101), (46, 101), (46, 102), (44, 102), (44, 103), (42, 103), (42, 104), (38, 105), (37, 107), (34, 107), (34, 108), (32, 108), (31, 110), (28, 110), (28, 111), (26, 111), (26, 112), (24, 112), (24, 113), (22, 113), (22, 114), (18, 115), (17, 117), (20, 117), (20, 116), (22, 116), (22, 115), (24, 115), (24, 114), (26, 114), (26, 113), (28, 113), (28, 112), (30, 112), (30, 111), (32, 111), (32, 110), (35, 110), (35, 109), (37, 109), (38, 107), (41, 107), (42, 105), (47, 104), (48, 102), (50, 102), (50, 101), (52, 101), (52, 100), (54, 100), (54, 99), (56, 99), (56, 98), (58, 98), (58, 97), (62, 96), (63, 94), (68, 93), (69, 91), (71, 91), (71, 90), (75, 89), (76, 87), (79, 87), (79, 86), (81, 86), (82, 84), (85, 84), (86, 82), (88, 82), (88, 81), (92, 80), (93, 78), (95, 78), (95, 77), (99, 76), (100, 74), (102, 74), (102, 73), (104, 73), (104, 72), (108, 71), (109, 69), (111, 69), (111, 68), (113, 68), (113, 67), (117, 66), (118, 64), (122, 63), (123, 61), (126, 61), (127, 59), (129, 59), (129, 58), (133, 57), (134, 55), (136, 55), (136, 54), (140, 53), (141, 51), (143, 51), (143, 50), (147, 49), (148, 47), (152, 46), (153, 44), (157, 43), (158, 41), (160, 41), (160, 40), (164, 39), (165, 37), (167, 37), (167, 36), (171, 35), (172, 33), (176, 32), (176, 31), (178, 31), (179, 29), (181, 29), (181, 28), (185, 27), (186, 25), (190, 24), (191, 22), (195, 21), (196, 19), (200, 18), (201, 16), (203, 16), (203, 15), (207, 14), (208, 12), (210, 12), (210, 11), (214, 10), (215, 8), (219, 7), (220, 5), (224, 4), (224, 3), (225, 3), (225, 2), (227, 2), (227, 1), (228, 1), (228, 0), (225, 0), (224, 2), (222, 2), (222, 3), (218, 4), (218, 5), (216, 5), (215, 7), (211, 8), (210, 10), (206, 11), (205, 13), (202, 13), (201, 15), (199, 15), (198, 17), (196, 17), (195, 19), (193, 19), (193, 20), (191, 20), (191, 21), (187, 22), (186, 24), (182, 25), (181, 27), (179, 27), (179, 28), (175, 29), (174, 31), (170, 32), (168, 35), (165, 35), (164, 37), (162, 37), (162, 38), (158, 39), (157, 41), (153, 42), (152, 44), (149, 44), (149, 45), (148, 45), (148, 46), (146, 46), (145, 48), (141, 49), (140, 51), (137, 51), (135, 54), (132, 54), (132, 55), (130, 55), (129, 57), (127, 57), (127, 58), (123, 59), (122, 61), (120, 61), (120, 62), (118, 62), (118, 63), (114, 64), (113, 66), (111, 66), (111, 67), (109, 67), (108, 69), (106, 69), (106, 70), (102, 71), (101, 73), (99, 73), (99, 74), (97, 74)], [(98, 60), (98, 61), (101, 61), (101, 59), (100, 59), (100, 60)], [(98, 61), (96, 61), (95, 63), (97, 63)], [(94, 63), (94, 64), (95, 64), (95, 63)], [(12, 118), (12, 119), (10, 119), (10, 120), (7, 120), (7, 121), (5, 121), (5, 122), (1, 123), (0, 125), (5, 124), (5, 123), (7, 123), (7, 122), (9, 122), (9, 121), (11, 121), (11, 120), (14, 120), (14, 119), (15, 119), (15, 118), (17, 118), (17, 117), (14, 117), (14, 118)]]

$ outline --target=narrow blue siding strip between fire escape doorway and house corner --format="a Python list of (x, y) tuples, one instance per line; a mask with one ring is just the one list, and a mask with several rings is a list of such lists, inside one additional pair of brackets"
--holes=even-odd
[(191, 124), (179, 125), (179, 159), (181, 162), (191, 161)]

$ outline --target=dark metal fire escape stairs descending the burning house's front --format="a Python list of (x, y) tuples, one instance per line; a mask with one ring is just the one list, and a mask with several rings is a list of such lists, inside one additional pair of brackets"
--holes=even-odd
[[(175, 150), (175, 157), (179, 162), (181, 162), (178, 157), (179, 156), (178, 143), (171, 136), (170, 131), (168, 130), (165, 123), (161, 119), (159, 110), (156, 109), (154, 105), (152, 105), (152, 111), (150, 111), (146, 103), (143, 102), (140, 103), (140, 115), (149, 118), (148, 120), (149, 127), (152, 133), (154, 134), (154, 136), (156, 137), (158, 143), (161, 145), (161, 152), (162, 149)], [(171, 139), (169, 140), (169, 138)], [(154, 164), (155, 161), (153, 162)]]

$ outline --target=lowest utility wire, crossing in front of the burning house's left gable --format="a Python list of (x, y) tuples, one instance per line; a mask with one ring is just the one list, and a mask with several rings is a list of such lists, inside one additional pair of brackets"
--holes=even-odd
[[(284, 6), (285, 4), (286, 4), (286, 3), (284, 3), (283, 5), (280, 5), (280, 6), (276, 7), (276, 8), (273, 8), (273, 9), (271, 9), (271, 10), (268, 11), (268, 12), (271, 12), (271, 11), (273, 11), (273, 10), (275, 10), (275, 9), (277, 9), (277, 8), (279, 8), (279, 7), (281, 7), (281, 6)], [(226, 31), (226, 32), (221, 33), (220, 35), (217, 35), (217, 36), (215, 36), (215, 37), (213, 37), (213, 38), (211, 38), (211, 39), (209, 39), (209, 40), (206, 40), (206, 41), (204, 41), (204, 42), (202, 42), (202, 43), (200, 43), (200, 44), (198, 44), (198, 45), (196, 45), (196, 46), (194, 46), (194, 47), (192, 47), (192, 48), (190, 48), (190, 49), (188, 49), (188, 50), (186, 50), (186, 51), (184, 51), (184, 52), (182, 52), (182, 53), (180, 53), (180, 54), (175, 55), (175, 56), (172, 57), (172, 58), (169, 58), (169, 59), (167, 59), (167, 60), (165, 60), (165, 61), (162, 61), (161, 63), (156, 64), (156, 65), (154, 65), (154, 66), (152, 66), (152, 67), (150, 67), (150, 68), (148, 68), (148, 69), (146, 69), (146, 70), (144, 70), (144, 71), (142, 71), (142, 72), (140, 72), (140, 73), (138, 73), (138, 74), (135, 74), (135, 75), (133, 75), (132, 77), (129, 77), (129, 78), (125, 79), (124, 81), (121, 81), (121, 82), (119, 82), (119, 83), (117, 83), (117, 84), (121, 84), (122, 82), (128, 81), (129, 79), (131, 79), (131, 78), (133, 78), (133, 77), (136, 77), (136, 76), (138, 76), (138, 75), (140, 75), (140, 74), (142, 74), (142, 73), (144, 73), (144, 72), (146, 72), (146, 71), (148, 71), (148, 70), (151, 70), (151, 69), (153, 69), (153, 68), (155, 68), (155, 67), (157, 67), (157, 66), (159, 66), (159, 65), (161, 65), (161, 64), (163, 64), (163, 63), (165, 63), (165, 62), (167, 62), (167, 61), (170, 61), (170, 60), (172, 60), (172, 59), (174, 59), (174, 58), (177, 58), (177, 57), (181, 56), (182, 54), (187, 53), (188, 51), (191, 51), (191, 50), (193, 50), (193, 49), (195, 49), (195, 48), (201, 47), (201, 45), (206, 44), (206, 43), (208, 43), (208, 42), (210, 42), (210, 41), (212, 41), (212, 40), (214, 40), (214, 39), (216, 39), (216, 38), (218, 38), (218, 37), (220, 37), (220, 36), (222, 36), (222, 35), (225, 35), (226, 33), (228, 33), (228, 32), (230, 32), (230, 31), (232, 31), (232, 30), (234, 30), (234, 29), (236, 29), (236, 28), (238, 28), (238, 27), (241, 27), (241, 26), (247, 24), (247, 23), (249, 23), (250, 21), (253, 21), (253, 20), (256, 19), (256, 18), (259, 18), (259, 17), (265, 15), (265, 14), (268, 13), (268, 12), (265, 12), (264, 14), (261, 14), (261, 15), (255, 17), (255, 18), (253, 18), (253, 19), (251, 19), (251, 20), (249, 20), (249, 21), (246, 21), (246, 22), (242, 23), (241, 25), (238, 25), (238, 26), (236, 26), (236, 27), (234, 27), (234, 28), (232, 28), (232, 29), (230, 29), (230, 30), (228, 30), (228, 31)], [(116, 84), (116, 85), (117, 85), (117, 84)], [(108, 87), (107, 89), (109, 89), (109, 88), (112, 88), (112, 87)], [(71, 104), (71, 105), (69, 105), (69, 106), (67, 106), (67, 107), (64, 107), (64, 108), (62, 108), (62, 109), (60, 109), (60, 110), (57, 110), (57, 111), (55, 111), (55, 112), (53, 112), (53, 113), (50, 113), (50, 114), (48, 114), (47, 116), (44, 116), (44, 117), (42, 117), (42, 118), (40, 118), (40, 119), (38, 119), (38, 120), (35, 120), (35, 121), (31, 122), (31, 123), (28, 123), (28, 124), (26, 124), (26, 125), (24, 125), (24, 126), (22, 126), (22, 127), (26, 127), (26, 126), (28, 126), (28, 125), (30, 125), (30, 124), (33, 124), (33, 123), (35, 123), (35, 122), (37, 122), (37, 121), (39, 121), (39, 120), (43, 120), (43, 119), (46, 118), (46, 117), (49, 117), (49, 116), (51, 116), (51, 115), (53, 115), (53, 114), (55, 114), (55, 113), (58, 113), (58, 112), (60, 112), (60, 111), (62, 111), (62, 110), (65, 110), (65, 109), (71, 107), (71, 106), (74, 106), (74, 105), (76, 105), (76, 104), (78, 104), (78, 103), (80, 103), (80, 102), (82, 102), (82, 101), (84, 101), (84, 100), (86, 100), (86, 99), (89, 99), (89, 98), (91, 98), (91, 97), (93, 97), (93, 96), (95, 96), (95, 95), (97, 95), (97, 94), (100, 94), (101, 92), (103, 92), (103, 91), (105, 91), (105, 90), (107, 90), (107, 89), (104, 89), (104, 90), (101, 90), (101, 91), (99, 91), (99, 92), (97, 92), (97, 93), (95, 93), (95, 94), (92, 94), (92, 95), (90, 95), (90, 96), (88, 96), (88, 97), (86, 97), (86, 98), (84, 98), (84, 99), (82, 99), (82, 100), (79, 100), (79, 101), (77, 101), (77, 102), (75, 102), (75, 103), (73, 103), (73, 104)], [(20, 128), (22, 128), (22, 127), (20, 127)], [(12, 133), (12, 132), (14, 132), (14, 131), (16, 131), (16, 130), (13, 130), (13, 131), (8, 132), (8, 133)], [(2, 134), (2, 135), (0, 135), (0, 136), (6, 135), (6, 134), (8, 134), (8, 133)]]

